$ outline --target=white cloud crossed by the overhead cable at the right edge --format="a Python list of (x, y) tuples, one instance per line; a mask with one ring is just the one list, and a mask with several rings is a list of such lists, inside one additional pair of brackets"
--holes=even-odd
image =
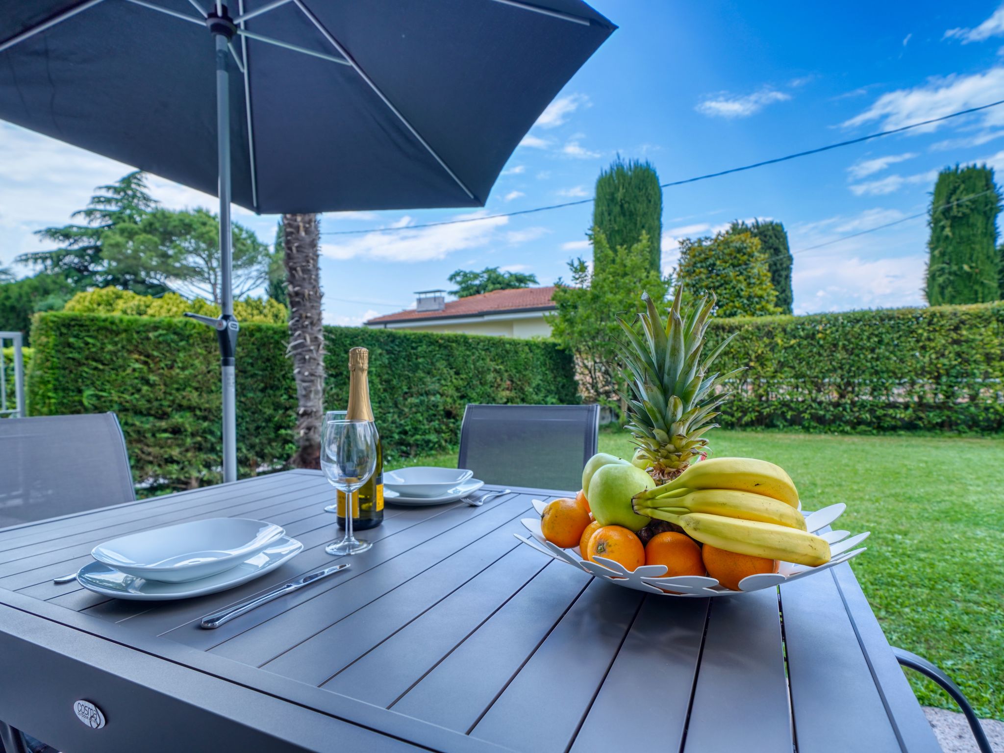
[[(880, 96), (858, 115), (845, 120), (845, 127), (881, 120), (884, 130), (898, 129), (921, 120), (930, 120), (951, 112), (1000, 99), (1004, 91), (1004, 67), (995, 67), (972, 75), (953, 74), (928, 79), (909, 89), (898, 89)], [(984, 110), (984, 127), (1004, 124), (998, 108)], [(930, 133), (944, 124), (935, 122), (915, 129), (912, 134)]]

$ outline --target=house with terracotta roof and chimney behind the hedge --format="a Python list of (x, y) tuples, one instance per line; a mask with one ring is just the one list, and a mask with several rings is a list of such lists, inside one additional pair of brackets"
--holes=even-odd
[(493, 290), (448, 301), (445, 290), (421, 290), (415, 308), (369, 319), (367, 327), (463, 332), (498, 337), (549, 337), (554, 286)]

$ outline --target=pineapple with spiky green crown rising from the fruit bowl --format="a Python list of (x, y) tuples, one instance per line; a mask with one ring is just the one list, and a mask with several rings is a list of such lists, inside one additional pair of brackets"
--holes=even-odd
[(625, 335), (618, 349), (628, 383), (620, 397), (631, 419), (626, 428), (638, 446), (633, 462), (647, 468), (657, 484), (675, 479), (694, 457), (707, 456), (708, 440), (701, 434), (718, 426), (712, 423), (719, 415), (716, 409), (730, 395), (715, 388), (743, 370), (708, 373), (734, 335), (702, 360), (715, 296), (701, 298), (686, 317), (680, 311), (682, 296), (680, 285), (665, 325), (648, 293), (642, 294), (647, 310), (638, 314), (641, 332), (634, 322), (617, 317)]

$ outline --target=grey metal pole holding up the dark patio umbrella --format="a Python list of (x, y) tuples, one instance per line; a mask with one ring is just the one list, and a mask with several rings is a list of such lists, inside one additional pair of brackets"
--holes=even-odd
[(220, 340), (220, 366), (223, 375), (223, 481), (237, 480), (237, 331), (234, 318), (233, 234), (230, 225), (230, 37), (214, 29), (216, 40), (216, 133), (220, 169), (220, 287), (225, 329), (217, 330)]

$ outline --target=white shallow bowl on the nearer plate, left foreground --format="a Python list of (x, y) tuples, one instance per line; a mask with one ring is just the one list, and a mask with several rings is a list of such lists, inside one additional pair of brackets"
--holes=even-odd
[(182, 583), (236, 567), (284, 533), (261, 520), (209, 518), (120, 536), (90, 554), (128, 575)]

